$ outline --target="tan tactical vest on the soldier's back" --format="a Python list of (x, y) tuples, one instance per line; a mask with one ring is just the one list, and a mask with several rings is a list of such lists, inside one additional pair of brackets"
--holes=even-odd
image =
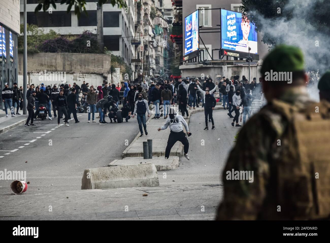
[[(287, 126), (279, 133), (281, 146), (271, 152), (276, 190), (268, 191), (276, 193), (271, 197), (281, 213), (267, 208), (265, 214), (271, 219), (330, 219), (330, 103), (308, 102), (298, 108), (274, 100), (271, 107)], [(279, 120), (270, 120), (279, 127)]]

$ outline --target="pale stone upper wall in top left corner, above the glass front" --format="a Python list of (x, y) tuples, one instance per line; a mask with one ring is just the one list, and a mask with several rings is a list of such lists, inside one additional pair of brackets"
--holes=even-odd
[(19, 34), (19, 0), (0, 1), (0, 23)]

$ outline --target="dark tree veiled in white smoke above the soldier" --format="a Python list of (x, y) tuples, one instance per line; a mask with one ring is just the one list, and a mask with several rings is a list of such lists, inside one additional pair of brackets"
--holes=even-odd
[(298, 46), (306, 70), (320, 73), (330, 65), (329, 9), (329, 0), (242, 0), (243, 12), (270, 50), (278, 44)]

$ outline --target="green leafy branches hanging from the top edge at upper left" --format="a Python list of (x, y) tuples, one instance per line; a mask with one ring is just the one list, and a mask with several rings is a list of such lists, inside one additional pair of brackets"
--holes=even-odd
[[(127, 5), (125, 3), (125, 0), (95, 0), (99, 5), (103, 5), (105, 3), (111, 3), (112, 6), (118, 5), (118, 8), (127, 8)], [(72, 6), (74, 6), (75, 9), (75, 15), (77, 17), (80, 17), (80, 14), (84, 12), (87, 15), (87, 11), (85, 8), (86, 0), (39, 0), (39, 4), (35, 8), (34, 12), (37, 13), (41, 9), (46, 12), (49, 9), (50, 4), (53, 6), (54, 9), (56, 9), (56, 3), (60, 4), (66, 4), (68, 5), (67, 13), (71, 11)]]

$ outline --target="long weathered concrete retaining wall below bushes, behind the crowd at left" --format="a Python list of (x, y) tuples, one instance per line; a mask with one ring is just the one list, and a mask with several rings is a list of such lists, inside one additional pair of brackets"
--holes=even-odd
[[(46, 75), (45, 75), (46, 70)], [(34, 53), (27, 56), (28, 84), (58, 85), (83, 81), (89, 86), (111, 83), (111, 56), (87, 53)], [(50, 72), (50, 73), (49, 73)], [(18, 81), (23, 83), (23, 54), (18, 55)]]

